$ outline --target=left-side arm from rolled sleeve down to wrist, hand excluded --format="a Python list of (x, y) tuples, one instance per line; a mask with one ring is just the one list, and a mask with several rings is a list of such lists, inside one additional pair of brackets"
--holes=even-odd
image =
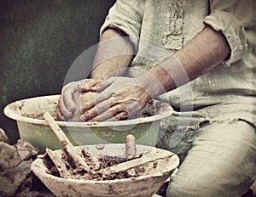
[(143, 10), (144, 2), (137, 0), (118, 0), (109, 9), (101, 27), (102, 37), (91, 78), (108, 79), (110, 76), (121, 76), (125, 73), (137, 51)]

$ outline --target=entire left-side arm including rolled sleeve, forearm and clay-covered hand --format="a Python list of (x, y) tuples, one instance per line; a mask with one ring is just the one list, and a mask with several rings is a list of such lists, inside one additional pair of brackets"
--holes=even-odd
[[(72, 82), (62, 88), (58, 102), (58, 117), (60, 120), (70, 118), (88, 98), (80, 98), (76, 104), (79, 86), (84, 91), (97, 88), (97, 84), (111, 76), (121, 76), (137, 50), (137, 37), (139, 37), (143, 19), (144, 2), (119, 0), (110, 8), (108, 16), (101, 28), (101, 39), (97, 48), (95, 62), (90, 73), (90, 79), (81, 82)], [(129, 13), (129, 14), (127, 14)], [(125, 33), (124, 33), (125, 32)], [(126, 37), (126, 35), (128, 37)], [(130, 40), (131, 39), (131, 40)], [(90, 89), (92, 87), (92, 89)], [(83, 89), (82, 89), (83, 90)], [(90, 91), (91, 93), (91, 91)], [(86, 93), (84, 93), (85, 96)], [(89, 96), (89, 93), (87, 93)], [(77, 113), (78, 114), (78, 113)]]

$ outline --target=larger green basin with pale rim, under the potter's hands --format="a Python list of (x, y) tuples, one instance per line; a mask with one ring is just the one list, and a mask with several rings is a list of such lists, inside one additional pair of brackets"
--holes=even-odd
[[(61, 143), (44, 121), (45, 111), (54, 117), (60, 95), (27, 98), (8, 104), (4, 113), (17, 121), (20, 138), (37, 147), (61, 149)], [(156, 102), (156, 101), (154, 101)], [(154, 146), (157, 143), (160, 121), (172, 115), (169, 104), (160, 104), (155, 115), (126, 121), (73, 122), (56, 121), (73, 145), (124, 143), (125, 136), (132, 134), (137, 144)]]

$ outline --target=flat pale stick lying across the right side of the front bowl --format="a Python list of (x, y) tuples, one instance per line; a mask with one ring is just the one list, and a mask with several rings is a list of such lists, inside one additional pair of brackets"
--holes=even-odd
[(128, 160), (126, 162), (104, 168), (102, 170), (102, 175), (108, 176), (109, 174), (112, 173), (124, 172), (133, 167), (141, 166), (154, 160), (172, 157), (172, 155), (174, 155), (172, 152), (159, 152), (156, 148), (153, 148), (150, 149), (150, 151), (148, 151), (148, 153), (143, 155), (141, 158)]

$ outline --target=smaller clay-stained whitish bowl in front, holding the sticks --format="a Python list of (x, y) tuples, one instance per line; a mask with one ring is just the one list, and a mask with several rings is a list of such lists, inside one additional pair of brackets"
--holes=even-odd
[[(96, 145), (88, 145), (86, 147), (98, 157), (108, 155), (121, 158), (124, 157), (125, 153), (125, 144), (105, 144), (104, 149), (96, 149)], [(137, 154), (143, 153), (150, 148), (152, 147), (137, 145)], [(81, 149), (81, 147), (77, 147), (77, 149)], [(157, 149), (157, 151), (167, 150)], [(60, 155), (61, 151), (55, 150), (55, 153)], [(171, 176), (178, 164), (177, 155), (172, 155), (168, 159), (159, 159), (148, 163), (148, 166), (145, 167), (147, 170), (140, 177), (95, 181), (55, 177), (47, 172), (48, 169), (44, 166), (44, 159), (38, 158), (32, 163), (32, 172), (58, 197), (150, 197), (160, 189), (160, 186)]]

